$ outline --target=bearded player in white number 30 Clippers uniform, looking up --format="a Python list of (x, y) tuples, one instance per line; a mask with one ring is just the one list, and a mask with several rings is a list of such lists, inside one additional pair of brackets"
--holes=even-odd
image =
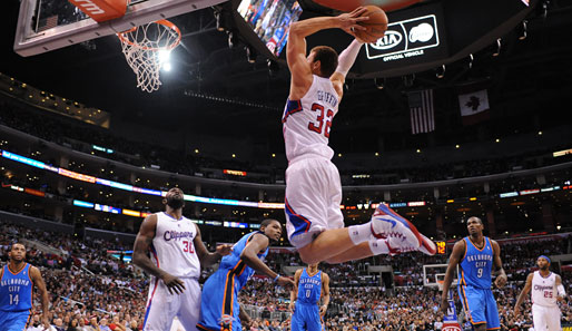
[(200, 265), (211, 265), (231, 250), (219, 245), (216, 253), (207, 251), (198, 226), (183, 216), (183, 197), (180, 188), (169, 189), (166, 211), (147, 216), (135, 240), (134, 263), (151, 275), (144, 331), (170, 330), (175, 317), (186, 331), (196, 330)]

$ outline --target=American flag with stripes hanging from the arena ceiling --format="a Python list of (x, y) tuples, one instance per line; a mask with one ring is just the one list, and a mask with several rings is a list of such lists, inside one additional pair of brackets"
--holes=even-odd
[(407, 95), (411, 113), (411, 133), (425, 134), (435, 130), (435, 108), (433, 107), (433, 90), (425, 89)]

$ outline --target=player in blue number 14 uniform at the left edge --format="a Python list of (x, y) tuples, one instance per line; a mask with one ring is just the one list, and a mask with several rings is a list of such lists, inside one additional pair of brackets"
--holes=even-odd
[(31, 318), (32, 293), (40, 291), (42, 323), (50, 329), (48, 320), (48, 291), (40, 271), (24, 262), (26, 246), (13, 244), (8, 253), (10, 261), (0, 271), (0, 331), (23, 331)]

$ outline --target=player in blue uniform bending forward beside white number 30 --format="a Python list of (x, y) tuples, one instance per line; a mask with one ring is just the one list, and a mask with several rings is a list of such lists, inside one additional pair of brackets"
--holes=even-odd
[(255, 272), (283, 286), (294, 284), (263, 262), (268, 254), (270, 240), (278, 241), (280, 235), (280, 223), (265, 220), (260, 231), (243, 236), (233, 246), (233, 253), (223, 257), (218, 270), (203, 285), (200, 319), (197, 323), (199, 330), (240, 331), (241, 323), (250, 324), (250, 319), (238, 304), (238, 292)]

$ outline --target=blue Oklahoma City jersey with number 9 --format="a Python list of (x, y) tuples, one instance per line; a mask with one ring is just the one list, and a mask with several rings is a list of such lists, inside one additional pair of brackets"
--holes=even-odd
[(461, 285), (479, 289), (491, 289), (491, 271), (493, 267), (493, 246), (491, 240), (484, 237), (485, 245), (477, 249), (466, 236), (465, 256), (461, 261)]

